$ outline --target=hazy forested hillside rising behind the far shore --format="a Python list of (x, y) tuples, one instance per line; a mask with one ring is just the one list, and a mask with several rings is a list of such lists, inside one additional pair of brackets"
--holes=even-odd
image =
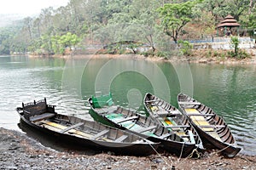
[[(128, 43), (168, 50), (171, 41), (215, 34), (227, 14), (243, 29), (256, 28), (254, 0), (70, 0), (66, 7), (44, 8), (0, 28), (0, 54), (65, 54), (85, 45)], [(118, 43), (114, 43), (118, 44)], [(157, 46), (157, 47), (156, 47)]]

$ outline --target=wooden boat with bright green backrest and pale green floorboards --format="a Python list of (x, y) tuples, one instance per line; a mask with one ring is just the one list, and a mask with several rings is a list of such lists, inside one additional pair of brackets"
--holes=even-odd
[(123, 107), (113, 105), (111, 94), (88, 99), (90, 114), (100, 122), (135, 133), (153, 142), (160, 142), (161, 148), (177, 156), (189, 156), (196, 145), (180, 138), (150, 117), (137, 114)]

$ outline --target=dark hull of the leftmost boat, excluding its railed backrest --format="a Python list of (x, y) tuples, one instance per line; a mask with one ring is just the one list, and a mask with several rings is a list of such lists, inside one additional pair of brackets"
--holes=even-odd
[[(73, 122), (73, 124), (80, 123), (81, 125), (81, 128), (79, 129), (75, 129), (74, 127), (71, 128), (72, 126), (69, 126), (70, 128), (67, 127), (64, 130), (60, 129), (58, 131), (55, 131), (47, 127), (47, 124), (39, 125), (38, 122), (41, 122), (41, 120), (38, 122), (30, 121), (29, 119), (27, 119), (24, 112), (20, 108), (17, 109), (17, 111), (20, 115), (20, 121), (22, 123), (26, 123), (27, 126), (35, 129), (35, 132), (40, 131), (42, 133), (45, 133), (48, 136), (58, 138), (59, 141), (64, 141), (65, 143), (70, 144), (71, 146), (79, 145), (81, 147), (84, 147), (90, 150), (113, 151), (115, 154), (118, 154), (118, 155), (148, 156), (151, 154), (155, 154), (155, 150), (160, 145), (160, 144), (147, 141), (146, 139), (138, 137), (134, 134), (127, 133), (113, 127), (107, 127), (97, 122), (90, 122), (75, 116), (65, 116), (65, 115), (61, 115), (53, 112), (55, 113), (55, 116), (45, 120), (47, 120), (48, 122), (51, 120), (58, 120), (60, 122), (65, 121), (69, 123)], [(42, 120), (42, 121), (44, 122), (45, 120)], [(63, 126), (63, 124), (57, 124), (57, 126)], [(91, 135), (88, 134), (90, 135), (90, 137), (88, 138), (79, 136), (77, 132), (83, 133), (85, 132), (84, 131), (85, 128), (92, 129), (96, 133)], [(72, 130), (75, 132), (71, 132)], [(107, 136), (106, 136), (106, 139), (104, 140), (93, 139), (93, 137), (96, 136), (98, 132), (101, 132), (104, 130), (110, 136), (108, 139), (107, 139)], [(83, 135), (85, 136), (85, 133)], [(117, 139), (122, 136), (124, 136), (125, 139), (127, 139), (127, 142), (125, 139), (124, 139), (125, 142), (121, 142), (121, 140), (117, 141)], [(103, 137), (102, 135), (102, 138), (105, 138), (105, 137)], [(129, 141), (131, 140), (131, 142), (128, 142), (128, 140)]]

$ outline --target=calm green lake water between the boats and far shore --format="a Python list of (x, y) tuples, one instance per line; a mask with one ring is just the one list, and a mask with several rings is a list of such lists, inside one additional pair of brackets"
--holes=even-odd
[(90, 119), (84, 102), (113, 94), (116, 104), (143, 113), (153, 93), (177, 106), (177, 94), (193, 95), (230, 125), (242, 153), (256, 155), (256, 65), (189, 65), (143, 59), (32, 59), (0, 56), (0, 127), (20, 131), (15, 108), (46, 97), (57, 111)]

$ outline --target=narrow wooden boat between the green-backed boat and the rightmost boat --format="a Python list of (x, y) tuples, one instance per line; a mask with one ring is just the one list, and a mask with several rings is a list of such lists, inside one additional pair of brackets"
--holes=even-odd
[(168, 130), (183, 138), (184, 141), (196, 144), (199, 149), (203, 150), (201, 138), (195, 128), (189, 122), (187, 116), (184, 116), (176, 107), (154, 94), (145, 94), (143, 105), (148, 112), (148, 116), (158, 122), (160, 126), (168, 128)]

